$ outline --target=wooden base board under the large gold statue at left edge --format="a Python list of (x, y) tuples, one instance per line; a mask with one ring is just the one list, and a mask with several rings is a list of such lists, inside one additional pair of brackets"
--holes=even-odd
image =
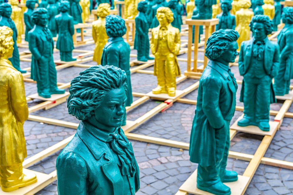
[(34, 191), (35, 188), (41, 186), (43, 183), (47, 182), (48, 180), (50, 180), (52, 178), (52, 176), (44, 174), (44, 173), (40, 173), (40, 172), (36, 172), (33, 170), (29, 170), (29, 169), (23, 169), (23, 173), (34, 173), (37, 175), (37, 182), (33, 183), (29, 186), (25, 186), (22, 188), (19, 188), (15, 191), (11, 191), (11, 192), (4, 192), (0, 189), (0, 194), (1, 195), (28, 195), (28, 194), (34, 194), (37, 191)]

